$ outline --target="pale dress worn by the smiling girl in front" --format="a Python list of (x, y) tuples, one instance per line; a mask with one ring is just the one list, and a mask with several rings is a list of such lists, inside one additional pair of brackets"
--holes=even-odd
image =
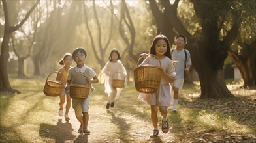
[[(167, 73), (170, 77), (174, 77), (176, 75), (174, 71), (174, 66), (172, 64), (172, 60), (168, 57), (161, 59), (161, 68), (163, 71)], [(159, 60), (155, 59), (155, 57), (148, 56), (140, 65), (150, 64), (159, 66)], [(170, 106), (172, 101), (172, 86), (168, 83), (168, 80), (165, 77), (161, 77), (160, 85), (157, 92), (153, 94), (139, 94), (139, 99), (142, 101), (150, 104), (150, 105), (157, 105), (157, 106)]]

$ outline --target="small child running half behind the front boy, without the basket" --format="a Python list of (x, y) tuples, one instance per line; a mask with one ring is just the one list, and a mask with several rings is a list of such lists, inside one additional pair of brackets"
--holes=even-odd
[[(60, 65), (64, 65), (59, 68), (59, 72), (57, 74), (56, 80), (61, 81), (61, 83), (67, 83), (67, 73), (69, 68), (71, 68), (71, 64), (73, 62), (73, 57), (71, 53), (65, 53), (63, 55), (63, 59), (59, 61)], [(59, 116), (63, 116), (63, 105), (65, 103), (65, 94), (67, 94), (67, 104), (66, 104), (66, 111), (65, 111), (65, 120), (69, 121), (69, 109), (71, 108), (71, 97), (67, 93), (65, 89), (63, 89), (62, 94), (59, 96)]]

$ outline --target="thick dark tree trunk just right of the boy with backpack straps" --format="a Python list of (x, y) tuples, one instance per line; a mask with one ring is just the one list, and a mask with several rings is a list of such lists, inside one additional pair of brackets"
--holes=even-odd
[[(225, 83), (223, 68), (221, 68), (221, 65), (223, 65), (221, 63), (224, 62), (225, 55), (216, 54), (220, 53), (220, 51), (210, 51), (207, 47), (211, 47), (213, 41), (204, 41), (205, 40), (202, 40), (202, 42), (189, 41), (189, 44), (186, 45), (189, 47), (187, 49), (189, 49), (192, 55), (191, 60), (193, 61), (193, 67), (199, 74), (201, 87), (200, 98), (232, 97), (233, 95), (228, 90)], [(219, 48), (219, 50), (222, 50), (222, 48)]]

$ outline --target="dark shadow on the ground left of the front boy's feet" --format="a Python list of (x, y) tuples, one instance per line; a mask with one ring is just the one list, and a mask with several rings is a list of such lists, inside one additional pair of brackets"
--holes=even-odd
[(76, 136), (72, 135), (72, 125), (69, 122), (63, 123), (58, 120), (57, 125), (40, 124), (39, 135), (44, 138), (52, 138), (55, 142), (67, 142), (74, 140)]

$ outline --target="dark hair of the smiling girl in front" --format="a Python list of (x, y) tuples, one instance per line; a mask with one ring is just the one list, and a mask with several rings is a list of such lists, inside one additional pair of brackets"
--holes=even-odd
[(167, 43), (167, 52), (165, 53), (165, 56), (172, 59), (172, 57), (170, 55), (170, 42), (169, 42), (168, 38), (163, 34), (159, 34), (159, 35), (155, 36), (155, 38), (153, 39), (152, 45), (150, 47), (150, 53), (153, 55), (156, 55), (155, 44), (157, 44), (157, 41), (161, 40), (161, 39), (165, 40), (165, 42)]

